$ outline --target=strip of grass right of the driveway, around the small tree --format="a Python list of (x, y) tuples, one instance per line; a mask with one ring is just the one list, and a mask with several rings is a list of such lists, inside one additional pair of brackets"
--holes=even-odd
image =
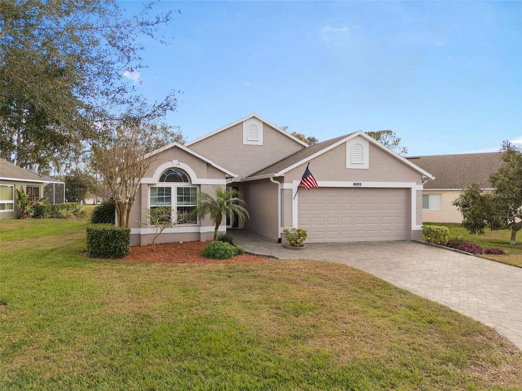
[(477, 255), (480, 258), (489, 259), (507, 265), (522, 267), (522, 230), (518, 231), (516, 245), (509, 246), (511, 229), (500, 229), (497, 231), (487, 230), (484, 235), (471, 235), (461, 224), (456, 223), (424, 223), (425, 225), (443, 225), (448, 227), (449, 236), (462, 236), (466, 240), (477, 243), (480, 247), (493, 247), (505, 251), (506, 255)]

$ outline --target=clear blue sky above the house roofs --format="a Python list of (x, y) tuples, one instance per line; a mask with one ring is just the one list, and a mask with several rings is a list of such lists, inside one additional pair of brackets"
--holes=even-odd
[[(138, 2), (122, 1), (128, 11)], [(192, 140), (248, 114), (320, 141), (393, 130), (408, 155), (522, 143), (522, 2), (162, 1), (138, 92)]]

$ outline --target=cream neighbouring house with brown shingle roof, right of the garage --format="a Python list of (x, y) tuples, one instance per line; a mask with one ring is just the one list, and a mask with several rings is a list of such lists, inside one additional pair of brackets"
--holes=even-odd
[(493, 190), (489, 176), (501, 166), (500, 155), (490, 152), (407, 157), (435, 177), (426, 182), (422, 191), (422, 221), (461, 223), (462, 214), (452, 202), (473, 181), (485, 190)]

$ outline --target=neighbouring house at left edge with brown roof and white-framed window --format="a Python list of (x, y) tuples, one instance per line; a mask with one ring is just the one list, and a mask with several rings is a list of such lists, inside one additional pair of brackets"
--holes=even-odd
[(23, 189), (29, 197), (37, 200), (47, 197), (51, 204), (64, 202), (64, 182), (0, 159), (0, 218), (18, 217), (15, 188)]

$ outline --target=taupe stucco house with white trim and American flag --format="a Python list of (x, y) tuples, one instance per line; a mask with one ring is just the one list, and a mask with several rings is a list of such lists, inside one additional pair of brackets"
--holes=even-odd
[[(137, 223), (146, 221), (147, 209), (189, 212), (196, 195), (213, 194), (215, 186), (235, 188), (245, 200), (250, 218), (235, 226), (274, 241), (285, 227), (305, 228), (309, 243), (421, 239), (423, 182), (431, 174), (361, 131), (307, 146), (251, 114), (149, 157), (155, 162), (131, 212), (133, 246), (152, 240), (155, 230)], [(319, 187), (296, 194), (308, 163)], [(191, 218), (158, 239), (206, 241), (213, 229), (208, 217)]]

